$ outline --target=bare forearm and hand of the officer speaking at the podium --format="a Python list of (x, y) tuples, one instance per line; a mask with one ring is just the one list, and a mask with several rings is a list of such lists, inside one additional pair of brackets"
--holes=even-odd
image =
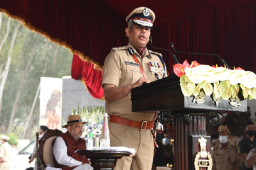
[(104, 84), (104, 96), (106, 101), (119, 100), (124, 98), (124, 95), (131, 93), (131, 89), (142, 86), (143, 83), (150, 83), (144, 77), (139, 78), (134, 84), (127, 84), (127, 86), (114, 86), (112, 84)]

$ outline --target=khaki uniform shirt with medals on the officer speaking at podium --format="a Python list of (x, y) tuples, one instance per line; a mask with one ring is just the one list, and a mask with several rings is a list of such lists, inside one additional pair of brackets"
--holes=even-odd
[[(135, 61), (132, 58), (132, 55), (129, 54), (127, 50), (128, 47), (132, 47), (132, 49), (134, 50), (134, 55), (137, 57), (137, 60), (139, 60), (140, 64), (142, 65), (142, 68), (146, 74), (146, 78), (149, 81), (157, 80), (155, 73), (151, 72), (151, 70), (149, 69), (149, 62), (156, 62), (162, 66), (161, 60), (156, 55), (159, 53), (150, 52), (149, 55), (149, 51), (146, 48), (145, 55), (142, 58), (139, 56), (134, 47), (129, 43), (127, 46), (124, 47), (113, 48), (110, 54), (107, 55), (103, 67), (102, 84), (124, 86), (125, 84), (134, 84), (139, 78), (143, 77), (139, 67), (131, 64), (131, 62), (135, 63)], [(166, 66), (164, 67), (164, 77), (166, 77)], [(157, 74), (159, 79), (163, 78), (163, 73)], [(130, 94), (128, 97), (124, 97), (119, 100), (106, 101), (105, 111), (110, 115), (116, 115), (135, 121), (151, 121), (154, 118), (154, 114), (132, 112), (132, 101)]]

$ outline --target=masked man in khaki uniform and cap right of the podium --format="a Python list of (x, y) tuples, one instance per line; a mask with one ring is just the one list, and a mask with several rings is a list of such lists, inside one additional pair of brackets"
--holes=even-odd
[(230, 131), (224, 125), (218, 128), (220, 145), (213, 147), (211, 156), (213, 158), (213, 170), (238, 170), (242, 169), (240, 150), (228, 142)]

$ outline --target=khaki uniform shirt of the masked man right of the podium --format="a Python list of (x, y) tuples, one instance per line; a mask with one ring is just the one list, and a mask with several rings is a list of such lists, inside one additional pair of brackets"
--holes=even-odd
[(242, 157), (238, 147), (228, 144), (225, 149), (221, 145), (213, 147), (211, 156), (216, 170), (233, 170), (235, 166), (242, 168)]

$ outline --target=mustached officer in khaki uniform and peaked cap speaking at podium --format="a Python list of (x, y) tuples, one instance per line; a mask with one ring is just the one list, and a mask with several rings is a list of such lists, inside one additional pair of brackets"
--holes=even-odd
[[(136, 154), (118, 159), (115, 170), (149, 170), (154, 157), (154, 113), (132, 112), (131, 89), (166, 77), (161, 54), (146, 48), (155, 14), (139, 7), (126, 18), (129, 43), (113, 48), (103, 67), (105, 111), (110, 115), (110, 145), (135, 148)], [(157, 99), (157, 98), (156, 98)]]

